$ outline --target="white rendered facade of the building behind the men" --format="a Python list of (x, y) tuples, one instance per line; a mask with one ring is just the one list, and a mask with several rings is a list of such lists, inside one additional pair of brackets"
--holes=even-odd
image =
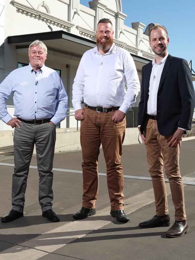
[[(149, 50), (148, 36), (143, 34), (143, 30), (139, 28), (138, 39), (137, 29), (124, 25), (126, 15), (122, 13), (120, 0), (90, 1), (91, 8), (79, 4), (79, 0), (33, 0), (30, 3), (41, 14), (48, 15), (51, 20), (56, 21), (57, 19), (60, 21), (59, 23), (47, 21), (53, 31), (64, 30), (92, 40), (95, 40), (98, 19), (110, 18), (113, 22), (114, 35), (117, 38), (114, 38), (116, 44), (126, 48), (135, 55), (150, 59), (153, 57)], [(7, 37), (50, 31), (45, 22), (32, 14), (31, 6), (26, 0), (0, 0), (0, 13), (4, 4), (5, 7), (0, 16), (0, 82), (4, 79), (5, 73), (9, 73), (17, 68), (18, 62), (29, 63), (28, 50), (26, 50), (26, 55), (22, 55), (22, 49), (16, 50), (15, 45), (7, 44)], [(17, 9), (17, 6), (21, 8)], [(24, 10), (30, 11), (26, 12)], [(63, 24), (67, 24), (67, 27), (63, 27)], [(139, 42), (138, 48), (136, 48), (136, 42)], [(55, 55), (65, 54), (55, 52)], [(73, 59), (79, 64), (80, 58), (70, 56), (70, 63), (67, 62), (69, 64), (68, 68), (66, 68), (66, 64), (55, 63), (49, 59), (45, 62), (46, 66), (61, 70), (61, 78), (68, 95), (69, 108), (72, 107), (72, 84), (77, 70), (77, 66), (70, 65)], [(140, 71), (138, 71), (138, 74), (139, 78), (141, 78)], [(138, 106), (139, 100), (140, 97), (138, 96), (135, 106)], [(6, 104), (8, 106), (13, 105), (13, 95), (6, 100)], [(61, 122), (61, 127), (66, 126), (67, 120)], [(7, 127), (0, 121), (0, 130), (7, 129)], [(70, 116), (70, 127), (76, 127), (76, 120), (73, 116)]]

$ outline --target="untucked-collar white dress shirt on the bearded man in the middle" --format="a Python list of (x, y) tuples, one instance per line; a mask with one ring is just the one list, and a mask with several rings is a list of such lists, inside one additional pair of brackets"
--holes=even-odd
[[(125, 84), (127, 91), (125, 91)], [(73, 83), (74, 110), (82, 109), (82, 100), (93, 107), (116, 107), (125, 114), (140, 91), (135, 63), (130, 53), (114, 43), (104, 55), (97, 46), (86, 51)]]

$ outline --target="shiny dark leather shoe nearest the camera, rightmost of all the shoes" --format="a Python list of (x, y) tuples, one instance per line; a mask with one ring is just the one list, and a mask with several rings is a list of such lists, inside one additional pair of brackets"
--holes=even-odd
[(182, 237), (189, 230), (187, 220), (176, 221), (172, 227), (167, 231), (166, 237), (179, 238)]

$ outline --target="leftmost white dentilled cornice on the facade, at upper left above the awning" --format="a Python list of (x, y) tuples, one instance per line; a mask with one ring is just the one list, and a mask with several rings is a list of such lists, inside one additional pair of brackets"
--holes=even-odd
[[(13, 3), (13, 6), (16, 7), (18, 12), (23, 13), (25, 15), (32, 16), (33, 18), (39, 19), (39, 15), (35, 12), (35, 10), (33, 10), (33, 8), (31, 8), (25, 4), (22, 4), (18, 1), (15, 1), (15, 0), (12, 0), (12, 3)], [(37, 11), (46, 20), (46, 22), (48, 22), (52, 25), (58, 26), (60, 28), (66, 29), (66, 30), (70, 30), (70, 28), (72, 28), (74, 26), (73, 23), (59, 19), (58, 17), (52, 16), (49, 13), (44, 13), (40, 10), (37, 10)]]

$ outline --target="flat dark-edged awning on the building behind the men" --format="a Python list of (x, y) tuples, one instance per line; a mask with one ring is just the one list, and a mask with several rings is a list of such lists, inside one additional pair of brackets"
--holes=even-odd
[[(17, 54), (26, 56), (28, 52), (27, 48), (37, 39), (43, 41), (47, 46), (47, 60), (65, 64), (78, 64), (83, 53), (96, 46), (94, 40), (86, 39), (62, 30), (9, 36), (7, 37), (7, 42), (16, 45)], [(68, 55), (72, 57), (70, 58)], [(143, 65), (150, 62), (149, 59), (137, 55), (132, 54), (132, 57), (135, 61), (137, 70), (141, 70)]]

